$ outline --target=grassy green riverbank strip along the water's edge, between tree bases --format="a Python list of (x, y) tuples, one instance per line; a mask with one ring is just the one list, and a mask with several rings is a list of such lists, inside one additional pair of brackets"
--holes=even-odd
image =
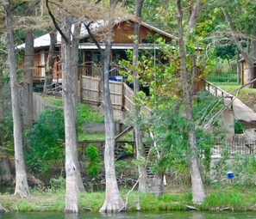
[[(141, 211), (156, 210), (189, 210), (190, 206), (197, 210), (234, 210), (256, 211), (255, 189), (208, 188), (208, 196), (203, 204), (192, 204), (189, 191), (176, 189), (156, 198), (152, 194), (122, 191), (122, 198), (128, 200), (128, 210), (135, 211), (135, 204), (140, 200)], [(1, 194), (1, 204), (9, 211), (59, 211), (65, 209), (65, 191), (33, 190), (28, 198), (16, 198), (10, 194)], [(127, 199), (127, 200), (126, 200)], [(79, 196), (79, 210), (81, 212), (97, 212), (103, 204), (104, 192), (84, 192)]]

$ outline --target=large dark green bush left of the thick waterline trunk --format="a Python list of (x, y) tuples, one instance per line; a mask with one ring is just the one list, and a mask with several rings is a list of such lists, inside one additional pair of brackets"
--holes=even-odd
[(59, 172), (64, 159), (64, 118), (62, 109), (47, 108), (28, 131), (25, 160), (44, 177)]

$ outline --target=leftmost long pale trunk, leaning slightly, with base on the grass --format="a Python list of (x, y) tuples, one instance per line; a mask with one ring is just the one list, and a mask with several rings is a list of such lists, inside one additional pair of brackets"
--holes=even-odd
[(14, 46), (14, 34), (12, 28), (12, 18), (9, 0), (4, 1), (6, 9), (6, 27), (8, 39), (8, 63), (10, 75), (11, 88), (11, 103), (12, 103), (12, 117), (13, 117), (13, 136), (15, 145), (15, 161), (16, 161), (16, 190), (15, 195), (25, 198), (29, 195), (28, 179), (24, 162), (23, 148), (22, 148), (22, 122), (20, 114), (20, 106), (18, 100), (18, 88), (16, 79), (16, 58)]

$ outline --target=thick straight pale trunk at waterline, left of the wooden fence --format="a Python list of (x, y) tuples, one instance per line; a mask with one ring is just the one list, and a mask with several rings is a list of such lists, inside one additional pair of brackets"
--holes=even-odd
[(72, 18), (64, 17), (66, 40), (62, 39), (63, 60), (63, 106), (66, 144), (66, 209), (67, 213), (78, 213), (78, 151), (75, 108), (73, 103), (71, 27)]

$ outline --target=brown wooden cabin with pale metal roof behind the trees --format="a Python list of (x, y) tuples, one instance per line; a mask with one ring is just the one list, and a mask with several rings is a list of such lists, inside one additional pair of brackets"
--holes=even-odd
[[(103, 21), (96, 22), (91, 25), (91, 32), (98, 33), (102, 31)], [(126, 50), (133, 48), (133, 40), (130, 38), (134, 34), (134, 21), (116, 21), (114, 27), (114, 36), (112, 44), (112, 60), (111, 63), (117, 64), (119, 60), (126, 59)], [(100, 53), (97, 46), (91, 42), (86, 29), (81, 27), (81, 38), (79, 44), (79, 61), (78, 73), (84, 76), (99, 76), (102, 69)], [(171, 42), (177, 40), (172, 34), (166, 33), (159, 28), (153, 27), (145, 22), (140, 24), (140, 49), (153, 49), (153, 39), (161, 37), (165, 41)], [(61, 82), (61, 58), (60, 58), (60, 34), (57, 34), (57, 43), (55, 47), (56, 55), (53, 68), (53, 81)], [(100, 45), (104, 49), (104, 44), (100, 41)], [(34, 80), (43, 80), (45, 77), (48, 49), (50, 46), (50, 35), (45, 34), (34, 39)], [(18, 49), (24, 49), (25, 44), (17, 46)], [(117, 76), (118, 70), (113, 70), (110, 76)]]

